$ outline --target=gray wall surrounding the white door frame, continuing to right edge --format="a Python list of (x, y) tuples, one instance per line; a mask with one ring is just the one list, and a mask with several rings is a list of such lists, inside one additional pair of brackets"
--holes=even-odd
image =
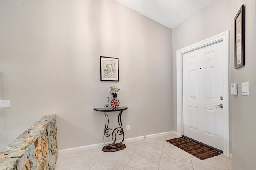
[[(234, 69), (234, 16), (246, 6), (246, 63)], [(174, 76), (174, 130), (176, 110), (176, 50), (230, 30), (229, 82), (238, 84), (238, 95), (230, 95), (230, 152), (234, 170), (254, 170), (256, 159), (255, 114), (255, 2), (253, 0), (218, 0), (172, 30)], [(241, 83), (249, 82), (250, 96), (241, 95)]]

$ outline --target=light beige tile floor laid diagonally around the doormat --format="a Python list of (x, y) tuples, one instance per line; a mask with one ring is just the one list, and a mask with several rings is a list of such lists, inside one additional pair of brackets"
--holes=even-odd
[(219, 155), (200, 160), (166, 142), (166, 135), (124, 142), (126, 148), (103, 152), (101, 148), (59, 154), (56, 170), (232, 170), (232, 159)]

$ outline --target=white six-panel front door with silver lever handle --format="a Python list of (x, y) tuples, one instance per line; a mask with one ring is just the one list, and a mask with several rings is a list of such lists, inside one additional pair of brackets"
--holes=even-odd
[(185, 53), (182, 58), (183, 135), (223, 150), (225, 112), (218, 106), (224, 96), (223, 41)]

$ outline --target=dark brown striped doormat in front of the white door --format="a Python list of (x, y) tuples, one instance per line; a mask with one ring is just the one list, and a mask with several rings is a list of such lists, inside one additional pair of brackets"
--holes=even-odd
[(219, 152), (216, 152), (215, 150), (212, 150), (210, 148), (207, 148), (206, 146), (202, 146), (196, 142), (193, 142), (191, 140), (185, 139), (185, 138), (175, 138), (175, 139), (169, 139), (166, 140), (167, 142), (173, 144), (174, 146), (177, 146), (178, 148), (196, 156), (200, 160), (212, 158), (214, 156), (220, 155)]

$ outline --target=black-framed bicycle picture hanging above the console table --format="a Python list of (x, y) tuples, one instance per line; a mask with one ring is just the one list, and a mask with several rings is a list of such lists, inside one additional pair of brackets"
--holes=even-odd
[(100, 56), (100, 80), (119, 81), (118, 58)]

